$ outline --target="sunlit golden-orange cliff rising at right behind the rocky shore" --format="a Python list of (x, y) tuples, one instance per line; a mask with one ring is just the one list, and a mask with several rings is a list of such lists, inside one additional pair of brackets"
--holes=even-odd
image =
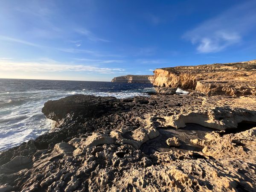
[[(156, 69), (154, 86), (168, 87), (170, 93), (180, 87), (208, 96), (256, 95), (256, 60)], [(161, 93), (161, 91), (164, 92), (161, 88), (157, 88), (157, 92)]]

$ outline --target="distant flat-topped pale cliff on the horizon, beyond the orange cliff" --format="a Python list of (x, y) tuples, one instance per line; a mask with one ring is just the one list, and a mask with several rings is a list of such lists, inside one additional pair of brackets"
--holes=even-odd
[(154, 76), (119, 76), (112, 79), (111, 82), (123, 82), (123, 83), (153, 83)]

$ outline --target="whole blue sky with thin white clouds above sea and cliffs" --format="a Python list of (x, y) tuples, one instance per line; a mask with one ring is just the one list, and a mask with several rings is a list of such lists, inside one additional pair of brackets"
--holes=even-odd
[(256, 59), (256, 0), (1, 0), (0, 78), (111, 81)]

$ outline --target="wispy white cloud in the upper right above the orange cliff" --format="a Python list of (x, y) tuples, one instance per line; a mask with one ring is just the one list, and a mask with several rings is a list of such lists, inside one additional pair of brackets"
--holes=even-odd
[(200, 53), (219, 52), (241, 42), (256, 29), (256, 1), (246, 1), (188, 31), (183, 38), (197, 46)]

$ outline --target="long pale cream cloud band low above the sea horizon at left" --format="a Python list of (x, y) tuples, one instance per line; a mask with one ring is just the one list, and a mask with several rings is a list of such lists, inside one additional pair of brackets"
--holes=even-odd
[(0, 71), (21, 71), (21, 72), (95, 72), (106, 74), (123, 73), (122, 68), (95, 67), (83, 64), (56, 64), (46, 62), (6, 62), (0, 61)]

